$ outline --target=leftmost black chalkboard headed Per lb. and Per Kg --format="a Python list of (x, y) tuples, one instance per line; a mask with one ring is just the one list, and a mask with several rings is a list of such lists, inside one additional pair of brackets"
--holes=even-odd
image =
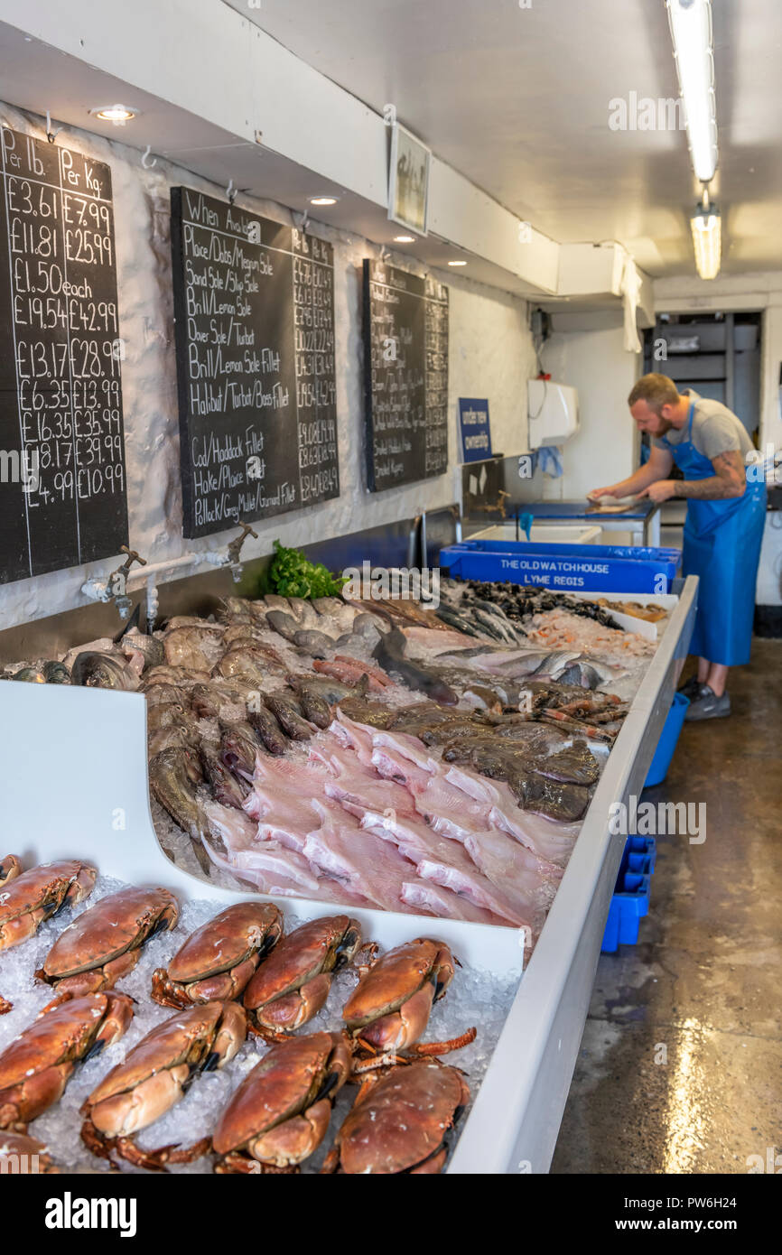
[(0, 582), (128, 543), (108, 166), (0, 132)]

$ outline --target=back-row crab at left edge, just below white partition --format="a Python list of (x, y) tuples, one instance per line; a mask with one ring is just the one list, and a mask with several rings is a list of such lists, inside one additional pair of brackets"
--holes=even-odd
[(44, 920), (83, 901), (92, 894), (98, 875), (95, 867), (80, 858), (40, 863), (19, 872), (19, 860), (9, 855), (3, 867), (9, 865), (10, 875), (6, 872), (0, 891), (0, 950), (26, 941)]

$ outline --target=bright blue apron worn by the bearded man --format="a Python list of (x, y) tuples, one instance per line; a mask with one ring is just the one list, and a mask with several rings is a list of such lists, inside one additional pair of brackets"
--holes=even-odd
[[(714, 467), (692, 442), (695, 402), (690, 402), (687, 439), (663, 437), (685, 479), (708, 479)], [(697, 575), (698, 614), (690, 653), (709, 663), (741, 666), (749, 661), (754, 586), (763, 527), (766, 483), (747, 483), (743, 496), (727, 501), (688, 501), (684, 525), (684, 575)]]

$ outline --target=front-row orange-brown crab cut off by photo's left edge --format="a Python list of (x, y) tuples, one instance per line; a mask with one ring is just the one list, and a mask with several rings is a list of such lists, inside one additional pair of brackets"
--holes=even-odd
[(114, 991), (45, 1009), (0, 1054), (0, 1128), (19, 1128), (58, 1101), (77, 1063), (117, 1042), (133, 1003)]

